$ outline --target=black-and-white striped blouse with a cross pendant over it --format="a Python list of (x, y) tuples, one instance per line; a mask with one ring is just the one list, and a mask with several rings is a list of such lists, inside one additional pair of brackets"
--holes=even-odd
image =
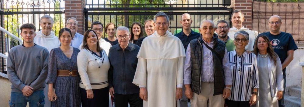
[(249, 101), (253, 88), (259, 88), (257, 57), (255, 54), (244, 52), (238, 56), (236, 51), (228, 53), (232, 71), (231, 95), (233, 101)]

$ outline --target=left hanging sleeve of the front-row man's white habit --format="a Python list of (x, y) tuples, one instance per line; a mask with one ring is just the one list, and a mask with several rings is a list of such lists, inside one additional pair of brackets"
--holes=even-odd
[(147, 59), (138, 58), (133, 84), (147, 87)]

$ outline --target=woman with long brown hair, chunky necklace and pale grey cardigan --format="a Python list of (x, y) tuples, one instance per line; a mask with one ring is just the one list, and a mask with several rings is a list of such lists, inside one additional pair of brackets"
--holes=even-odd
[(257, 55), (257, 68), (260, 71), (257, 107), (278, 107), (278, 100), (283, 96), (282, 64), (271, 46), (265, 35), (255, 39), (254, 54)]

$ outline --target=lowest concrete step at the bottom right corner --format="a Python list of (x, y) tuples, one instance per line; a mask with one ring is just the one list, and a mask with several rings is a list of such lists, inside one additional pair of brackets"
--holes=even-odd
[(285, 95), (284, 105), (285, 107), (301, 107), (301, 98)]

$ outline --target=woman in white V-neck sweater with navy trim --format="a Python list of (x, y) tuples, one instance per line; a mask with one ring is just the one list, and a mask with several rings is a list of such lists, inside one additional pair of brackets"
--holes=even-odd
[(83, 38), (82, 50), (77, 56), (81, 77), (80, 93), (83, 107), (108, 107), (108, 70), (110, 62), (105, 50), (99, 46), (97, 34), (89, 29)]

